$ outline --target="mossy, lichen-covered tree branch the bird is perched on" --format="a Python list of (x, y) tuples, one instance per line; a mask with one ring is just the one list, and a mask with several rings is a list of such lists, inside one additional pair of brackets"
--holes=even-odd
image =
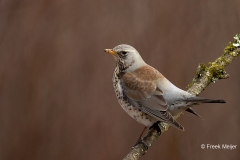
[[(240, 54), (240, 34), (234, 37), (234, 42), (229, 42), (229, 45), (224, 49), (224, 54), (217, 58), (214, 62), (206, 64), (199, 64), (195, 77), (192, 82), (187, 86), (187, 92), (193, 95), (199, 95), (211, 82), (215, 83), (219, 79), (226, 79), (229, 75), (225, 71), (225, 67), (229, 65)], [(180, 115), (174, 118), (179, 118)], [(161, 122), (159, 124), (161, 133), (168, 130), (169, 125)], [(156, 129), (152, 128), (148, 131), (147, 135), (143, 138), (143, 142), (148, 146), (145, 147), (142, 143), (136, 145), (124, 160), (138, 160), (143, 156), (152, 144), (161, 135)]]

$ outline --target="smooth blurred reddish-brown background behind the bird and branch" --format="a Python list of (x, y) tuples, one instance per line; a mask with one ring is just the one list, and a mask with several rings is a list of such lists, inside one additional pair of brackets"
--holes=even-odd
[[(122, 159), (143, 126), (119, 106), (103, 49), (130, 44), (185, 89), (239, 32), (239, 0), (1, 0), (0, 159)], [(171, 128), (142, 159), (239, 159), (239, 68), (201, 94), (227, 104), (196, 107), (204, 120), (186, 113), (186, 131)]]

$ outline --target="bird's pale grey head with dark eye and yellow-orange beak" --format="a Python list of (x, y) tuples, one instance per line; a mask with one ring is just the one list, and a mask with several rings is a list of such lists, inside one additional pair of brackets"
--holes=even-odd
[(104, 51), (113, 56), (119, 69), (124, 72), (131, 72), (146, 65), (138, 51), (130, 45), (120, 44)]

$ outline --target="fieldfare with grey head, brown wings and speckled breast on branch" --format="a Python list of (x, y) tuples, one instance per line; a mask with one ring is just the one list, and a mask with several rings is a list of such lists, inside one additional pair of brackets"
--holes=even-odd
[(145, 126), (144, 130), (159, 122), (184, 130), (173, 116), (183, 111), (199, 116), (191, 108), (192, 105), (225, 103), (224, 100), (196, 97), (179, 89), (158, 70), (145, 63), (138, 51), (130, 45), (121, 44), (104, 51), (116, 61), (112, 80), (119, 104), (132, 118)]

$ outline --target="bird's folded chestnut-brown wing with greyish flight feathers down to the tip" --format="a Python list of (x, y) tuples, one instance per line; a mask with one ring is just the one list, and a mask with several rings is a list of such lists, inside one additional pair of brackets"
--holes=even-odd
[(163, 92), (157, 87), (156, 81), (163, 76), (154, 68), (145, 66), (131, 73), (125, 73), (121, 79), (123, 92), (129, 102), (148, 115), (166, 122), (180, 130), (184, 130), (167, 111), (168, 106)]

